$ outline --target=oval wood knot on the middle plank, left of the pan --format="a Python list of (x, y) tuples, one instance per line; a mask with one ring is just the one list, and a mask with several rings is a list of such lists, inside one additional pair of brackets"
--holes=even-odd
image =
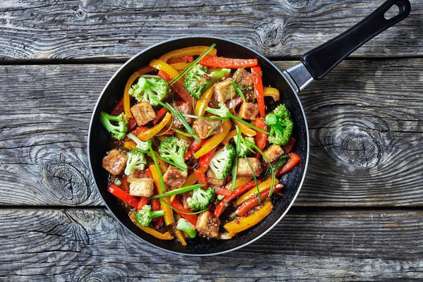
[(63, 204), (81, 204), (90, 195), (87, 180), (77, 168), (65, 161), (44, 166), (43, 181)]

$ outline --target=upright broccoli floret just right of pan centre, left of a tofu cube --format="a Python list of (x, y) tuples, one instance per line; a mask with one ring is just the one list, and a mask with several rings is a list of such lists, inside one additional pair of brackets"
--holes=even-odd
[(217, 179), (223, 180), (226, 176), (231, 174), (234, 157), (235, 147), (233, 147), (233, 145), (228, 145), (214, 153), (209, 166)]

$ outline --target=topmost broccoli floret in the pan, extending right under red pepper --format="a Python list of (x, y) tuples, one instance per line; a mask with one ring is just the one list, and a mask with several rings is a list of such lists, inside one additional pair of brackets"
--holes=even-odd
[(185, 88), (195, 99), (200, 99), (201, 93), (207, 88), (221, 80), (225, 75), (231, 73), (228, 68), (222, 68), (221, 71), (207, 73), (207, 68), (202, 65), (196, 65), (188, 71), (185, 76)]

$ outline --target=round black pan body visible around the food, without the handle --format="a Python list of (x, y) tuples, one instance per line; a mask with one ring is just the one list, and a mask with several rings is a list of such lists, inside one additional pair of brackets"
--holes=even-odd
[[(110, 111), (116, 101), (122, 97), (125, 83), (130, 75), (140, 66), (147, 65), (151, 59), (157, 59), (162, 54), (175, 49), (196, 45), (209, 46), (212, 43), (216, 43), (215, 48), (218, 50), (218, 56), (243, 59), (254, 58), (259, 60), (259, 65), (262, 67), (264, 85), (278, 88), (281, 92), (281, 102), (285, 103), (292, 113), (295, 124), (293, 136), (297, 140), (294, 152), (300, 156), (301, 161), (298, 166), (293, 168), (293, 171), (290, 171), (290, 173), (281, 178), (281, 183), (286, 186), (283, 190), (283, 197), (278, 195), (274, 196), (274, 211), (271, 212), (266, 219), (257, 224), (257, 226), (243, 233), (239, 233), (232, 240), (209, 240), (197, 236), (192, 240), (188, 240), (187, 246), (182, 246), (174, 240), (159, 240), (141, 231), (130, 221), (128, 214), (118, 204), (116, 198), (107, 192), (108, 174), (102, 168), (102, 158), (108, 150), (108, 133), (102, 127), (101, 123), (99, 123), (99, 114), (100, 111)], [(270, 100), (266, 102), (270, 102)], [(269, 103), (267, 111), (271, 110), (273, 106), (274, 104)], [(88, 142), (90, 166), (92, 168), (94, 181), (106, 206), (112, 214), (116, 216), (116, 219), (121, 221), (123, 226), (147, 243), (170, 252), (178, 252), (186, 255), (214, 255), (216, 253), (227, 252), (250, 243), (252, 240), (255, 240), (255, 238), (268, 231), (274, 223), (281, 219), (283, 214), (290, 207), (291, 202), (295, 200), (298, 190), (302, 185), (303, 176), (305, 175), (305, 169), (307, 167), (308, 135), (305, 116), (297, 95), (291, 90), (285, 78), (283, 78), (281, 71), (279, 71), (273, 63), (260, 54), (257, 54), (252, 49), (243, 47), (235, 42), (210, 37), (188, 37), (163, 42), (142, 51), (140, 54), (134, 56), (133, 59), (125, 63), (125, 65), (115, 73), (114, 77), (111, 78), (99, 97), (99, 101), (97, 102), (97, 106), (92, 116)], [(264, 240), (266, 240), (266, 238), (264, 238)]]

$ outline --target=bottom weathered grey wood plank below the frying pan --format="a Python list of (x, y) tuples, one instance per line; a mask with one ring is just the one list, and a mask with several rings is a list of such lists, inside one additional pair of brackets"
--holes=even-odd
[[(301, 212), (218, 257), (169, 255), (103, 209), (1, 209), (7, 281), (379, 281), (423, 278), (422, 211)], [(91, 280), (90, 280), (91, 279)]]

